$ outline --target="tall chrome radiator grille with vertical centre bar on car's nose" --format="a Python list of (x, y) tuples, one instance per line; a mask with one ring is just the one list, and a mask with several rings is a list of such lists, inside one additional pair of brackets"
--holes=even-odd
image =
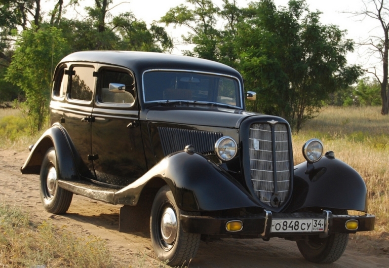
[(270, 207), (281, 206), (290, 190), (288, 127), (255, 123), (250, 126), (251, 182), (257, 198)]

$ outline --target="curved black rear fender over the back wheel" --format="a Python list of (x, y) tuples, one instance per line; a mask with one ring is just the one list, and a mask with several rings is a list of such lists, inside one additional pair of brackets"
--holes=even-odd
[(71, 149), (74, 148), (74, 145), (72, 146), (66, 130), (59, 124), (54, 124), (46, 130), (34, 144), (26, 162), (20, 168), (22, 174), (40, 174), (43, 158), (50, 147), (55, 148), (59, 178), (63, 180), (79, 180), (78, 170), (82, 168), (82, 160), (80, 157), (77, 157), (76, 153), (74, 154), (74, 151)]

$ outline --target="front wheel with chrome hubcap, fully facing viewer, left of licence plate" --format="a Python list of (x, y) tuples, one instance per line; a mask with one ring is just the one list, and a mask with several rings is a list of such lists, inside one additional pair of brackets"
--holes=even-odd
[[(170, 266), (187, 266), (200, 245), (200, 234), (183, 232), (181, 214), (183, 211), (177, 207), (169, 186), (163, 186), (151, 207), (150, 236), (155, 255)], [(185, 215), (199, 213), (185, 212)]]

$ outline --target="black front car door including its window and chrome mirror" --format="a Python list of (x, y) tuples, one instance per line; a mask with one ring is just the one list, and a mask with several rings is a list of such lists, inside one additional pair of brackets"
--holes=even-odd
[(134, 75), (100, 65), (92, 112), (92, 154), (96, 178), (128, 185), (146, 171)]

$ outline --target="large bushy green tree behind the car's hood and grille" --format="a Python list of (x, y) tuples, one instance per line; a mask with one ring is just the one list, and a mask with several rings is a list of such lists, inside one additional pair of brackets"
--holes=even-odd
[(277, 10), (272, 0), (260, 0), (238, 24), (240, 65), (246, 88), (259, 95), (255, 111), (286, 118), (299, 131), (322, 106), (329, 93), (358, 79), (361, 69), (347, 66), (353, 42), (344, 31), (320, 23), (304, 0), (291, 0)]

